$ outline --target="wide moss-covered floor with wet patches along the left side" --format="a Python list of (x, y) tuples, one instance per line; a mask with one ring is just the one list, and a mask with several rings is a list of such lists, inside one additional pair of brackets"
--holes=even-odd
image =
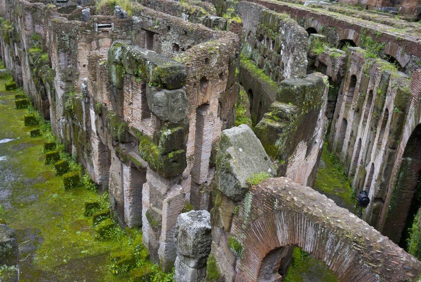
[[(54, 164), (44, 164), (43, 144), (51, 133), (29, 136), (37, 126), (24, 126), (28, 109), (15, 109), (16, 91), (5, 91), (6, 81), (0, 80), (0, 213), (16, 230), (20, 280), (129, 281), (128, 272), (112, 274), (115, 266), (110, 255), (121, 251), (135, 254), (133, 242), (139, 242), (141, 233), (116, 229), (117, 240), (95, 239), (92, 217), (83, 215), (84, 203), (106, 203), (106, 194), (84, 186), (64, 190)], [(137, 265), (156, 272), (156, 266), (145, 257)], [(162, 273), (154, 277), (158, 279), (154, 281), (171, 280)]]

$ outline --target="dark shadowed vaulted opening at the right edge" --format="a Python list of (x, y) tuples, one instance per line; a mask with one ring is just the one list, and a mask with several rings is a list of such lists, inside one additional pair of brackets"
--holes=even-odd
[(405, 147), (395, 188), (392, 191), (383, 233), (402, 247), (407, 246), (408, 228), (421, 205), (421, 124)]

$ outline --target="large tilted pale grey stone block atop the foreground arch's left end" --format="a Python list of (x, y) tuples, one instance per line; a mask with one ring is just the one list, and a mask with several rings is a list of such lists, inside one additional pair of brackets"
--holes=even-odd
[(240, 125), (222, 132), (216, 155), (218, 189), (234, 201), (239, 201), (249, 189), (247, 178), (255, 173), (275, 173), (274, 166), (253, 131)]

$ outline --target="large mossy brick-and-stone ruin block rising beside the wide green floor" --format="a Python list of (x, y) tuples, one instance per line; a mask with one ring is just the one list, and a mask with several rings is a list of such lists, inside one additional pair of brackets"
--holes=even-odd
[[(18, 82), (22, 73), (35, 82), (43, 78), (37, 65), (20, 68), (21, 58), (30, 62), (36, 55), (37, 64), (52, 70), (42, 84), (53, 131), (108, 189), (114, 219), (143, 225), (152, 259), (168, 271), (176, 257), (177, 215), (189, 200), (208, 209), (202, 191), (213, 179), (211, 150), (234, 123), (238, 36), (134, 5), (127, 18), (86, 16), (69, 5), (22, 8), (31, 16), (51, 9), (37, 33), (40, 50), (25, 52), (22, 44), (33, 47), (34, 36), (20, 36), (11, 14), (7, 35), (18, 36), (2, 34), (2, 58)], [(19, 23), (34, 32), (29, 20)], [(36, 87), (25, 91), (31, 99), (42, 94)]]

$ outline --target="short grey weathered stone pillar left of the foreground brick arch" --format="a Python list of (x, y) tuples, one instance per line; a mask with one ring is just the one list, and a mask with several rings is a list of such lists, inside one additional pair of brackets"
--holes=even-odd
[(202, 282), (212, 236), (208, 211), (190, 211), (177, 218), (174, 242), (177, 248), (175, 279), (177, 282)]

